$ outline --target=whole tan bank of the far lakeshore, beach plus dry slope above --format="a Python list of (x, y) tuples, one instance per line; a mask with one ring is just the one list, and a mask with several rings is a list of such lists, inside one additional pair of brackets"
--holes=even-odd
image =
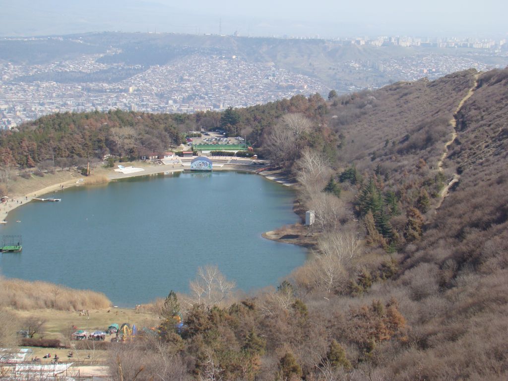
[[(196, 156), (194, 156), (194, 158), (195, 157)], [(42, 177), (33, 175), (28, 179), (16, 176), (16, 179), (11, 183), (9, 194), (4, 195), (7, 197), (7, 201), (0, 205), (0, 220), (8, 221), (10, 211), (22, 205), (26, 205), (34, 199), (41, 198), (44, 195), (51, 194), (53, 197), (58, 197), (56, 196), (58, 192), (62, 192), (73, 186), (103, 184), (129, 177), (183, 172), (185, 170), (190, 170), (190, 161), (192, 160), (192, 157), (176, 157), (163, 160), (161, 162), (162, 164), (153, 164), (148, 161), (119, 163), (120, 166), (125, 168), (134, 167), (135, 169), (139, 169), (139, 171), (128, 173), (115, 171), (115, 169), (119, 169), (118, 165), (115, 165), (113, 168), (104, 168), (103, 165), (99, 164), (91, 169), (91, 174), (89, 176), (83, 176), (76, 169), (56, 171), (54, 174), (46, 173)], [(265, 165), (268, 165), (268, 163), (264, 161), (254, 161), (234, 156), (212, 158), (212, 162), (213, 171), (247, 171), (259, 173)], [(276, 171), (263, 172), (260, 174), (284, 185), (293, 185), (292, 182), (278, 175)]]

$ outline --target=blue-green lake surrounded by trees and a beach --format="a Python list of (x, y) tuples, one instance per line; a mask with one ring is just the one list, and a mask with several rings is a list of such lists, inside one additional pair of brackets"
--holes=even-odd
[(23, 244), (21, 253), (0, 254), (4, 276), (100, 291), (134, 306), (188, 292), (198, 267), (210, 264), (245, 292), (276, 286), (308, 255), (261, 236), (299, 218), (294, 192), (259, 175), (142, 176), (52, 196), (62, 201), (30, 202), (0, 227)]

